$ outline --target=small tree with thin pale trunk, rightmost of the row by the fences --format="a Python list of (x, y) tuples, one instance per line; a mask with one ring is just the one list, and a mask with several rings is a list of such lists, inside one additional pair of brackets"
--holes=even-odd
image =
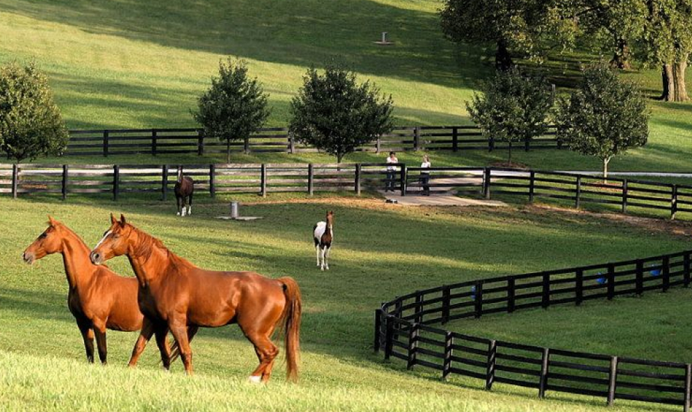
[(603, 179), (608, 178), (613, 156), (646, 144), (649, 113), (641, 90), (603, 63), (584, 69), (582, 85), (558, 106), (558, 141), (581, 154), (598, 156)]

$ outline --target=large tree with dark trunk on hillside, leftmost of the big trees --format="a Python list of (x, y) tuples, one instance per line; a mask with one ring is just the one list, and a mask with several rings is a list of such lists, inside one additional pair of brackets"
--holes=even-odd
[(495, 68), (512, 65), (510, 49), (541, 58), (547, 45), (568, 44), (574, 24), (561, 18), (558, 0), (445, 0), (440, 24), (454, 42), (496, 44)]

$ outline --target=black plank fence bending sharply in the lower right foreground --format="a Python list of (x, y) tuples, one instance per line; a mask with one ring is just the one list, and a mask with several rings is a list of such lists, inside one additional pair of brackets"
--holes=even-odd
[(632, 359), (523, 345), (446, 331), (431, 324), (511, 313), (523, 308), (581, 304), (591, 299), (665, 292), (690, 285), (692, 251), (632, 261), (509, 275), (417, 290), (375, 312), (374, 349), (406, 361), (494, 384), (616, 399), (681, 405), (689, 411), (690, 363)]

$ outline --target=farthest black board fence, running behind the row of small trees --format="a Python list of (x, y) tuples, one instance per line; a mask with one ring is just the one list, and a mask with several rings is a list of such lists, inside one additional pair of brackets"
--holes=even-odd
[[(546, 135), (514, 145), (525, 150), (555, 149), (554, 129)], [(201, 129), (119, 129), (72, 130), (65, 149), (66, 156), (94, 156), (120, 154), (219, 154), (226, 152), (226, 143), (208, 138)], [(506, 149), (504, 141), (484, 138), (477, 126), (399, 126), (392, 133), (382, 135), (357, 151), (410, 151), (410, 150), (494, 150)], [(263, 128), (250, 138), (233, 141), (233, 152), (315, 152), (317, 149), (302, 145), (281, 127)]]

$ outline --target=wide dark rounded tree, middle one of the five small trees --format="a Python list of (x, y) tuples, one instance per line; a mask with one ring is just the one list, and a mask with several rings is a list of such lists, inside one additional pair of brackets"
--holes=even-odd
[(288, 130), (341, 163), (356, 147), (392, 131), (392, 106), (391, 96), (381, 96), (370, 81), (357, 84), (350, 70), (329, 66), (319, 74), (309, 69), (291, 101)]

